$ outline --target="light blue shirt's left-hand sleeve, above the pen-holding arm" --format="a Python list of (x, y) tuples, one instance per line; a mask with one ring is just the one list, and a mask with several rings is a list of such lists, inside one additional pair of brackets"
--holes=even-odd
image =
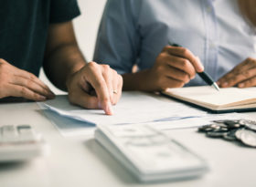
[(138, 0), (108, 0), (101, 18), (93, 60), (119, 74), (132, 72), (139, 54)]

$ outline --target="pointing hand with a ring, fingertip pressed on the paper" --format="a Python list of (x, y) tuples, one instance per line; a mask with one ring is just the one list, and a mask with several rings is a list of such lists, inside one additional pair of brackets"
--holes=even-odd
[[(103, 109), (112, 115), (122, 95), (123, 78), (108, 65), (86, 64), (67, 80), (69, 101), (86, 109)], [(95, 94), (96, 93), (96, 94)]]

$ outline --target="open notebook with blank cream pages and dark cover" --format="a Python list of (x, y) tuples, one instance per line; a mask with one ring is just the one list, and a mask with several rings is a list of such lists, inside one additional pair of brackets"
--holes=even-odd
[(162, 93), (215, 113), (256, 110), (256, 87), (220, 88), (220, 91), (209, 86), (168, 88)]

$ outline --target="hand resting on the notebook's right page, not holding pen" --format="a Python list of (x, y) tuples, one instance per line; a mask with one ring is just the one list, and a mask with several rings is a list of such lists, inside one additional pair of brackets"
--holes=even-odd
[(248, 88), (256, 86), (256, 59), (248, 57), (230, 70), (229, 73), (219, 78), (217, 84), (221, 88), (234, 86)]

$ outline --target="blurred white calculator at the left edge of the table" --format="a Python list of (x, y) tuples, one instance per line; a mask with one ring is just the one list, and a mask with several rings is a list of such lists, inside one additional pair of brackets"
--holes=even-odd
[(30, 125), (0, 126), (0, 162), (28, 161), (48, 153), (48, 144)]

